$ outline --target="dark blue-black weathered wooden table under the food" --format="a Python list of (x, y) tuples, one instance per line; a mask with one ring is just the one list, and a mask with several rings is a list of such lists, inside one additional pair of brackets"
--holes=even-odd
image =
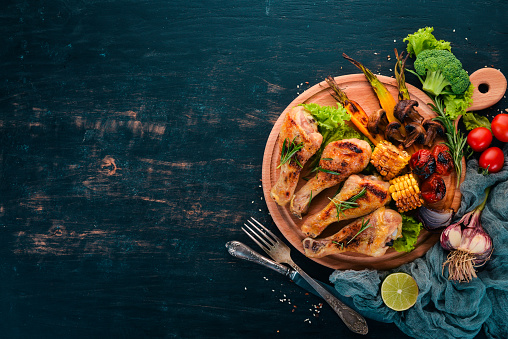
[(250, 216), (275, 229), (261, 188), (273, 123), (327, 75), (358, 72), (343, 52), (391, 75), (424, 26), (470, 72), (508, 73), (503, 0), (4, 1), (0, 17), (5, 338), (355, 337), (224, 247), (254, 247)]

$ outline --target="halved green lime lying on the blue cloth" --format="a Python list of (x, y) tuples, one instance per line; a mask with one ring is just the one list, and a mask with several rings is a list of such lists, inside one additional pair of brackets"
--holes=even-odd
[(392, 310), (407, 310), (416, 303), (418, 285), (407, 273), (392, 273), (381, 284), (381, 298)]

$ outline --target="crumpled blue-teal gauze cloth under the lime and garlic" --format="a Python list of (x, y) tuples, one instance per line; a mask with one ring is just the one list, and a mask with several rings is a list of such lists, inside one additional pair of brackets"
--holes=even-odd
[[(405, 334), (415, 338), (473, 338), (482, 329), (489, 338), (508, 338), (508, 145), (505, 164), (498, 173), (478, 173), (478, 161), (467, 163), (461, 185), (461, 206), (454, 217), (458, 221), (485, 198), (492, 186), (481, 214), (483, 228), (493, 240), (491, 259), (477, 270), (478, 278), (469, 283), (448, 280), (442, 265), (448, 254), (434, 245), (423, 257), (390, 271), (334, 271), (330, 282), (365, 317), (394, 323)], [(410, 274), (418, 284), (419, 295), (410, 309), (389, 309), (381, 298), (381, 282), (394, 272)]]

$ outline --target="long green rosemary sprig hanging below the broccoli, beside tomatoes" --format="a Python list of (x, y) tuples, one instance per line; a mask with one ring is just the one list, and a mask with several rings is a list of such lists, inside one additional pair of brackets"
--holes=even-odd
[(464, 147), (467, 146), (467, 138), (461, 131), (455, 128), (452, 120), (444, 112), (443, 99), (439, 97), (432, 98), (434, 104), (429, 104), (434, 112), (438, 114), (433, 120), (441, 122), (446, 129), (445, 145), (450, 149), (450, 154), (455, 165), (455, 172), (457, 172), (457, 187), (460, 185), (460, 178), (462, 176), (462, 158), (464, 157)]

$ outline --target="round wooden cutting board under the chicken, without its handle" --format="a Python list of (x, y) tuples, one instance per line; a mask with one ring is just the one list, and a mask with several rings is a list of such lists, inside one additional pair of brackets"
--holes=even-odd
[[(386, 76), (377, 76), (378, 79), (385, 84), (387, 89), (393, 95), (394, 98), (398, 96), (397, 83), (394, 78), (389, 78)], [(360, 106), (370, 114), (380, 108), (379, 101), (374, 94), (372, 87), (365, 79), (363, 73), (361, 74), (350, 74), (339, 76), (335, 78), (336, 82), (339, 84), (339, 87), (346, 92), (350, 100), (354, 100), (360, 104)], [(418, 101), (418, 111), (425, 118), (435, 117), (436, 114), (430, 109), (427, 103), (431, 102), (431, 99), (423, 93), (421, 90), (417, 89), (414, 86), (407, 85), (408, 90), (410, 92), (411, 98)], [(299, 95), (280, 115), (279, 119), (275, 123), (270, 136), (268, 138), (268, 142), (266, 144), (264, 158), (263, 158), (263, 192), (268, 205), (268, 209), (270, 214), (282, 232), (282, 234), (286, 237), (286, 239), (300, 252), (303, 253), (302, 240), (305, 238), (303, 233), (300, 231), (300, 226), (305, 221), (305, 218), (309, 215), (315, 214), (319, 212), (324, 206), (326, 206), (330, 200), (328, 197), (333, 197), (337, 191), (337, 187), (329, 188), (323, 191), (321, 194), (312, 199), (312, 204), (309, 209), (309, 213), (303, 217), (303, 219), (298, 219), (294, 217), (289, 212), (289, 207), (284, 206), (281, 207), (277, 205), (272, 198), (270, 197), (270, 190), (272, 186), (277, 181), (279, 170), (277, 169), (279, 163), (279, 149), (278, 149), (278, 139), (279, 139), (279, 131), (282, 121), (284, 120), (285, 114), (291, 110), (294, 106), (302, 103), (317, 103), (320, 105), (327, 106), (335, 106), (336, 101), (330, 95), (330, 87), (328, 84), (323, 81), (319, 84), (314, 85), (313, 87), (306, 90), (304, 93)], [(435, 143), (442, 142), (443, 139), (437, 139)], [(465, 169), (465, 161), (463, 160), (463, 168)], [(308, 172), (306, 168), (303, 169), (302, 175)], [(461, 181), (464, 179), (465, 170), (463, 172)], [(443, 199), (439, 206), (433, 206), (434, 208), (448, 208), (451, 207), (455, 210), (460, 206), (461, 195), (460, 191), (456, 189), (456, 175), (455, 172), (452, 175), (449, 175), (444, 178), (447, 186), (447, 194), (445, 199)], [(297, 192), (300, 187), (304, 185), (305, 181), (301, 179), (296, 188)], [(288, 204), (289, 205), (289, 204)], [(352, 220), (345, 221), (343, 223), (334, 223), (330, 225), (325, 232), (320, 237), (329, 236), (337, 232), (343, 225), (351, 222)], [(439, 239), (439, 233), (429, 233), (426, 230), (422, 229), (420, 232), (420, 236), (418, 237), (418, 242), (415, 246), (415, 249), (409, 253), (405, 252), (397, 252), (393, 249), (388, 249), (388, 251), (381, 257), (370, 257), (364, 254), (358, 253), (341, 253), (330, 255), (324, 258), (311, 258), (315, 262), (322, 264), (324, 266), (333, 268), (333, 269), (380, 269), (386, 270), (398, 267), (404, 263), (411, 262), (414, 259), (421, 257), (425, 254), (430, 247), (432, 247)]]

